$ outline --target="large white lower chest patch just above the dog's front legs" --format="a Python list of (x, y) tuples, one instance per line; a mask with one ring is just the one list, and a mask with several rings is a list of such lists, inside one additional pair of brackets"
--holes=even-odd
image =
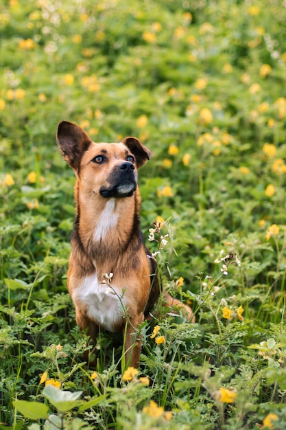
[(86, 309), (89, 319), (112, 332), (115, 331), (114, 326), (121, 324), (124, 315), (124, 297), (121, 295), (121, 288), (99, 284), (95, 273), (87, 276), (78, 288), (74, 288), (72, 299), (75, 304)]

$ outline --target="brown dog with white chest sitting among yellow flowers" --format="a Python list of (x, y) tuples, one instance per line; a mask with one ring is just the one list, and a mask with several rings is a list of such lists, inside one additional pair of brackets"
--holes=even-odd
[[(126, 327), (126, 359), (138, 367), (138, 328), (159, 294), (156, 262), (147, 258), (139, 223), (137, 169), (151, 152), (135, 137), (95, 144), (82, 128), (65, 121), (58, 125), (57, 142), (77, 178), (68, 271), (76, 322), (94, 341), (99, 326)], [(165, 298), (193, 317), (188, 306), (167, 293)]]

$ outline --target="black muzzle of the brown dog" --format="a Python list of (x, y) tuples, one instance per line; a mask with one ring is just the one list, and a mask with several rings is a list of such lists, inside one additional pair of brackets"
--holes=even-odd
[(112, 170), (108, 178), (110, 187), (102, 187), (99, 193), (102, 197), (130, 197), (137, 187), (135, 166), (130, 161), (124, 161)]

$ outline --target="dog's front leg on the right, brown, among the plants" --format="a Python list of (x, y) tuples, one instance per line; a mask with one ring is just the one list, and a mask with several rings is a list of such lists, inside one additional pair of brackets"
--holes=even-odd
[(136, 317), (129, 317), (127, 322), (126, 341), (124, 343), (124, 347), (126, 352), (126, 363), (132, 367), (139, 367), (142, 341), (138, 328), (143, 322), (143, 313), (136, 315)]

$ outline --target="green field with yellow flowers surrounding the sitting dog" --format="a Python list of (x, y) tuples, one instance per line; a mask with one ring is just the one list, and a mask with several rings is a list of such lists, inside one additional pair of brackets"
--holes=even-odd
[[(0, 0), (0, 429), (286, 429), (285, 20), (281, 0)], [(153, 152), (143, 233), (196, 323), (158, 308), (139, 370), (106, 332), (82, 359), (61, 120)]]

